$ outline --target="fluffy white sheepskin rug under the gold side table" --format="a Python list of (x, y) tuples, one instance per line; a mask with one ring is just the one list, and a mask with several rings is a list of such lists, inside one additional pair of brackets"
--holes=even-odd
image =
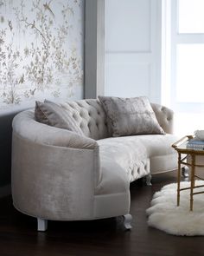
[[(204, 182), (196, 181), (195, 185), (204, 185)], [(190, 187), (190, 182), (181, 182), (181, 187)], [(200, 191), (204, 191), (204, 187), (194, 188), (194, 192)], [(181, 191), (179, 207), (176, 203), (176, 183), (166, 185), (156, 192), (151, 200), (151, 207), (146, 210), (148, 225), (175, 235), (204, 235), (204, 194), (194, 195), (193, 212), (189, 211), (189, 189)]]

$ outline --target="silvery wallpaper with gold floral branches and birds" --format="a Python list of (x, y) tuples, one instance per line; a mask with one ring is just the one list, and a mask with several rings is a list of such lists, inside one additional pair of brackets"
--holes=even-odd
[(0, 109), (83, 94), (84, 0), (0, 0)]

